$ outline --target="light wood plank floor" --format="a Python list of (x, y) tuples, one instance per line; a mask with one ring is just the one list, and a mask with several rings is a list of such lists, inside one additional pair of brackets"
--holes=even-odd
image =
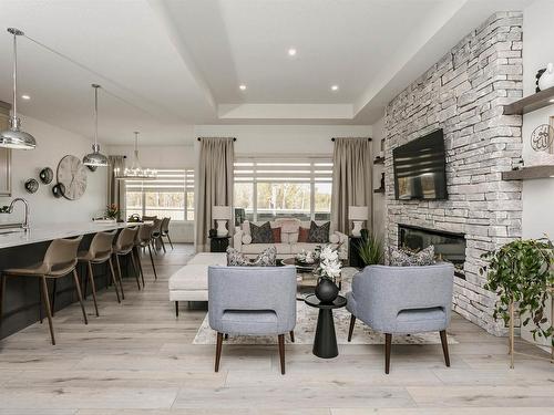
[[(186, 263), (191, 246), (156, 258), (158, 280), (144, 261), (146, 289), (125, 282), (126, 298), (99, 295), (100, 318), (86, 302), (0, 342), (0, 415), (115, 414), (554, 414), (554, 365), (517, 357), (507, 366), (506, 341), (455, 315), (452, 367), (440, 345), (393, 345), (390, 375), (382, 346), (343, 345), (320, 360), (309, 345), (287, 345), (287, 374), (277, 349), (225, 346), (214, 373), (214, 346), (193, 345), (206, 311), (178, 320), (167, 300), (167, 278)], [(538, 353), (519, 342), (521, 351)]]

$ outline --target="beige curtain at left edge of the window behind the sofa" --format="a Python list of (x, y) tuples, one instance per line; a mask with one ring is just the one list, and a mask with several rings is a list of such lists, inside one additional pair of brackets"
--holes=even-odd
[[(233, 206), (235, 145), (233, 137), (201, 137), (196, 209), (196, 251), (209, 250), (208, 232), (214, 228), (213, 206)], [(229, 235), (234, 220), (227, 224)]]

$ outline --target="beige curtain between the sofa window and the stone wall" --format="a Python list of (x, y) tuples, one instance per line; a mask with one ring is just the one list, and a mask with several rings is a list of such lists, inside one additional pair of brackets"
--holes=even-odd
[(335, 138), (332, 156), (331, 224), (350, 235), (349, 206), (367, 206), (371, 229), (371, 142), (365, 138)]

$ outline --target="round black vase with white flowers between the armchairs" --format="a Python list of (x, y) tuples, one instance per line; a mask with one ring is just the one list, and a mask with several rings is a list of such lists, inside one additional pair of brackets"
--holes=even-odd
[(339, 288), (335, 283), (340, 277), (342, 263), (339, 253), (331, 246), (326, 245), (319, 251), (319, 266), (314, 273), (318, 276), (316, 297), (321, 302), (332, 302), (339, 294)]

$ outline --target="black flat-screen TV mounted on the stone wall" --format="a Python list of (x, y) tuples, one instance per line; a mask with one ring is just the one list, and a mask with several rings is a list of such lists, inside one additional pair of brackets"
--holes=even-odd
[(397, 200), (448, 199), (442, 129), (394, 148), (392, 158)]

